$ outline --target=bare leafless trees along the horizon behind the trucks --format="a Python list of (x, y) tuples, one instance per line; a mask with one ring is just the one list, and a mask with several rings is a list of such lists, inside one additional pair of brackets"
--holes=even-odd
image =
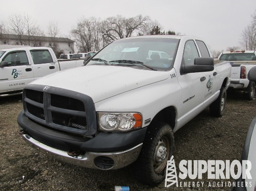
[[(116, 15), (106, 19), (95, 17), (80, 18), (72, 27), (65, 38), (70, 38), (75, 41), (76, 50), (74, 52), (98, 51), (105, 45), (113, 42), (116, 39), (127, 38), (141, 35), (180, 35), (180, 32), (162, 30), (161, 24), (157, 20), (150, 19), (149, 16), (137, 15), (135, 17), (123, 17)], [(51, 48), (54, 52), (59, 50), (56, 37), (64, 37), (60, 33), (58, 23), (51, 21), (47, 25), (47, 31), (40, 29), (36, 21), (29, 15), (13, 14), (9, 16), (7, 22), (0, 21), (0, 42), (3, 34), (18, 35), (20, 45), (43, 46), (42, 37), (50, 37)], [(27, 35), (28, 40), (25, 42), (22, 38)], [(8, 44), (8, 42), (7, 42)], [(234, 51), (239, 49), (255, 50), (256, 49), (256, 11), (252, 15), (251, 23), (244, 28), (239, 41), (240, 46), (227, 47), (226, 51)], [(224, 50), (211, 50), (213, 57)]]

